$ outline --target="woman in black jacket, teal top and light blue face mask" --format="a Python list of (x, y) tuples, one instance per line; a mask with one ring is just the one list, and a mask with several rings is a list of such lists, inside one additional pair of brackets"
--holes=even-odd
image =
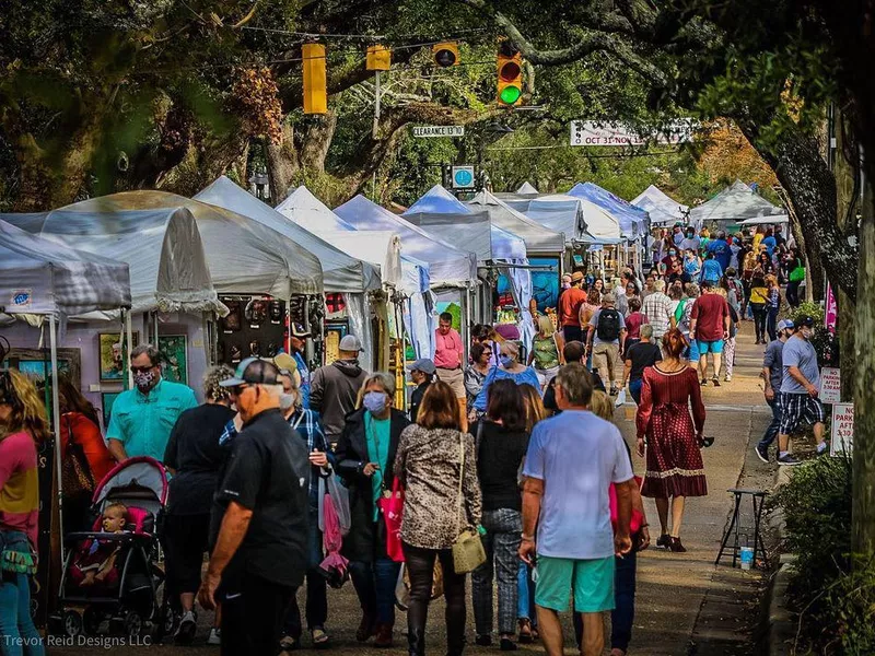
[(335, 456), (350, 494), (352, 526), (343, 538), (352, 584), (362, 607), (355, 640), (376, 635), (374, 646), (393, 645), (395, 584), (400, 564), (386, 554), (386, 525), (377, 500), (392, 491), (398, 441), (410, 421), (394, 409), (395, 376), (378, 372), (364, 380), (362, 407), (347, 417)]

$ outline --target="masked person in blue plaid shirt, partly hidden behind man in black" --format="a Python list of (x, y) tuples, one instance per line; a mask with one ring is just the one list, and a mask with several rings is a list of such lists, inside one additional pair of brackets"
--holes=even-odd
[[(315, 410), (301, 407), (301, 383), (298, 372), (293, 368), (294, 360), (288, 354), (273, 359), (280, 367), (279, 382), (282, 383), (280, 395), (280, 411), (285, 421), (296, 434), (306, 443), (310, 454), (310, 535), (307, 537), (307, 551), (310, 554), (306, 573), (306, 620), (310, 636), (314, 648), (324, 649), (329, 645), (325, 622), (328, 619), (328, 586), (325, 577), (319, 574), (319, 564), (325, 558), (323, 553), (322, 531), (319, 530), (319, 478), (330, 476), (335, 456), (328, 447), (328, 441), (322, 431), (319, 414)], [(285, 368), (288, 367), (288, 368)], [(285, 612), (283, 636), (280, 648), (292, 652), (301, 646), (301, 609), (298, 598), (292, 597)]]

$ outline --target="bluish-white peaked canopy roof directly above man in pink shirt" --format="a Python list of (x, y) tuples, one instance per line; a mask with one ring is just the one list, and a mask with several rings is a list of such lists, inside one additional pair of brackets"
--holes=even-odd
[(401, 237), (401, 251), (429, 263), (431, 288), (469, 288), (477, 280), (477, 257), (470, 248), (456, 248), (364, 196), (335, 208), (335, 214), (358, 231), (384, 230)]

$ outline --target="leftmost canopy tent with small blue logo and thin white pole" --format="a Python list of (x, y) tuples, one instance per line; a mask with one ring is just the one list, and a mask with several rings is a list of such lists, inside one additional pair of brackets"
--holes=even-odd
[[(56, 320), (97, 311), (129, 308), (131, 304), (128, 265), (44, 239), (0, 221), (0, 298), (4, 312), (48, 317), (51, 359), (51, 423), (60, 436), (58, 380), (58, 336)], [(9, 305), (5, 305), (9, 303)], [(55, 442), (58, 516), (63, 518), (61, 440)], [(59, 522), (59, 526), (60, 526)], [(60, 548), (60, 562), (65, 547)]]

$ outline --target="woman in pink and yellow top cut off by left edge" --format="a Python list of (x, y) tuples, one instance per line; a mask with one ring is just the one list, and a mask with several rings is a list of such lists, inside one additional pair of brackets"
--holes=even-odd
[(11, 656), (46, 653), (31, 619), (31, 577), (39, 519), (37, 449), (48, 434), (33, 383), (18, 370), (0, 372), (0, 652)]

